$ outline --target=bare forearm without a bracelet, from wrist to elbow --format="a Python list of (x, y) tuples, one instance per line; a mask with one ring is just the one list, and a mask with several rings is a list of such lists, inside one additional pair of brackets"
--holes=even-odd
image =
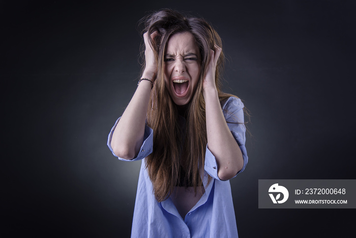
[(244, 164), (242, 152), (227, 126), (216, 88), (204, 89), (207, 146), (214, 154), (218, 176), (232, 178)]

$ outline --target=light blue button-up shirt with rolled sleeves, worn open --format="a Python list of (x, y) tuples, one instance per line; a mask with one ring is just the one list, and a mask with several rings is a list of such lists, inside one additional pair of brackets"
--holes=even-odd
[[(228, 98), (222, 105), (226, 121), (244, 122), (243, 108), (244, 104), (240, 99)], [(118, 120), (120, 118), (112, 127), (107, 142), (113, 154), (111, 137)], [(243, 154), (244, 166), (239, 172), (241, 173), (248, 161), (245, 148), (246, 127), (244, 124), (238, 123), (227, 123), (227, 125)], [(140, 152), (136, 158), (130, 161), (142, 160), (143, 158), (146, 160), (147, 155), (152, 152), (152, 148), (153, 130), (146, 125)], [(128, 161), (118, 158), (122, 161)], [(215, 156), (207, 148), (207, 145), (202, 175), (205, 193), (184, 219), (178, 213), (170, 198), (163, 202), (157, 202), (153, 194), (152, 182), (145, 169), (145, 160), (142, 160), (138, 179), (131, 237), (238, 237), (230, 182), (228, 180), (223, 181), (218, 177)], [(208, 174), (212, 176), (209, 184), (207, 184)]]

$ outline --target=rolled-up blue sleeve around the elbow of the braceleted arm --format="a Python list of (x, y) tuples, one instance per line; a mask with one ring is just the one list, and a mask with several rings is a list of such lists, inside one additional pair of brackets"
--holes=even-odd
[(132, 160), (125, 160), (125, 158), (121, 158), (121, 157), (118, 157), (114, 151), (112, 150), (112, 147), (111, 147), (111, 139), (112, 139), (112, 134), (114, 133), (114, 130), (116, 128), (116, 125), (117, 125), (117, 122), (120, 121), (120, 118), (119, 117), (114, 126), (112, 127), (110, 133), (109, 133), (109, 136), (108, 136), (108, 139), (107, 139), (107, 146), (109, 147), (110, 151), (112, 152), (112, 154), (114, 156), (116, 156), (119, 160), (122, 160), (122, 161), (138, 161), (138, 160), (142, 160), (142, 158), (145, 158), (147, 157), (149, 154), (152, 153), (152, 150), (153, 150), (153, 129), (147, 125), (145, 125), (144, 127), (144, 135), (143, 135), (143, 143), (142, 143), (142, 146), (140, 148), (140, 151), (139, 153), (137, 154), (137, 156), (135, 158), (133, 158)]

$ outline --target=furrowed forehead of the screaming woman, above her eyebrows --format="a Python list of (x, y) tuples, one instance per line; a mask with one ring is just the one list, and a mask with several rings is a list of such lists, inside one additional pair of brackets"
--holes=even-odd
[(169, 37), (167, 42), (167, 54), (179, 55), (193, 52), (198, 54), (199, 47), (195, 43), (194, 37), (189, 32), (176, 33)]

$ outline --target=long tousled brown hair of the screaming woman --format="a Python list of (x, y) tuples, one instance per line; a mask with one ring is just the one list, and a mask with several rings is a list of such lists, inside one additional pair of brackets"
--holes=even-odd
[[(207, 67), (210, 49), (216, 44), (222, 47), (221, 39), (212, 26), (202, 18), (183, 16), (181, 13), (163, 9), (144, 18), (144, 30), (150, 36), (157, 31), (150, 44), (157, 59), (157, 78), (151, 92), (147, 110), (147, 124), (153, 129), (153, 152), (146, 159), (146, 167), (153, 184), (158, 202), (169, 197), (174, 186), (185, 179), (190, 186), (202, 186), (200, 176), (204, 168), (207, 144), (205, 101), (202, 94), (203, 72)], [(201, 58), (200, 78), (184, 115), (186, 123), (182, 128), (176, 104), (172, 101), (164, 85), (164, 54), (170, 36), (189, 32), (199, 47)], [(219, 99), (225, 100), (230, 94), (221, 92), (221, 74), (224, 56), (221, 53), (217, 62), (215, 83)], [(144, 64), (143, 68), (144, 69)], [(184, 168), (185, 174), (182, 173)], [(209, 176), (209, 182), (211, 177)]]

